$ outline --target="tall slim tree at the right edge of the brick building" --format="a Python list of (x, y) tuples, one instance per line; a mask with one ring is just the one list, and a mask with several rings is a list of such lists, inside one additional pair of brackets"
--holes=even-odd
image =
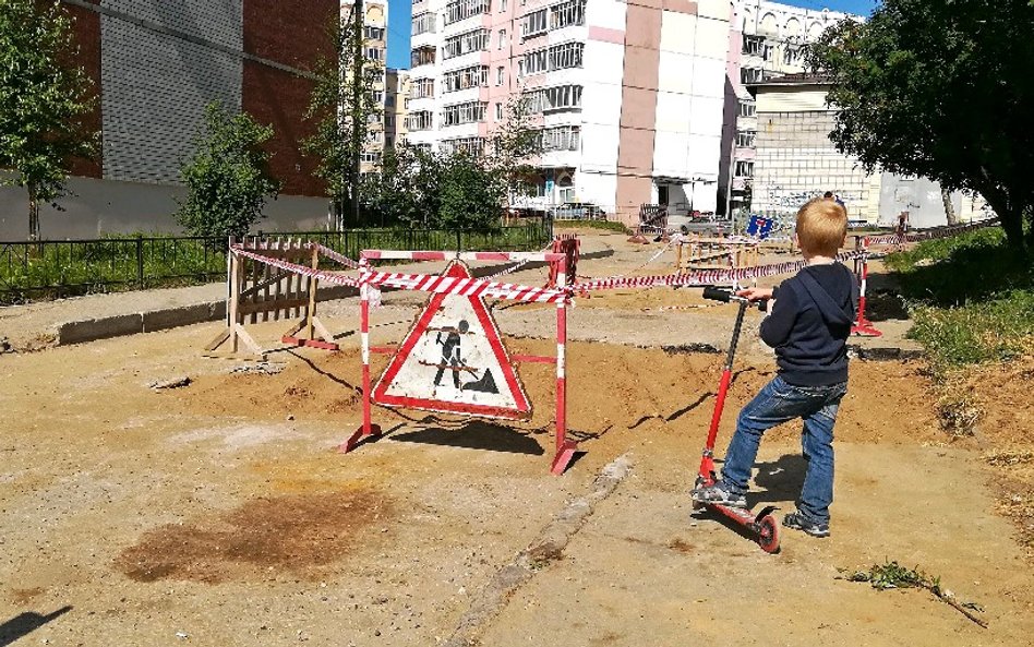
[[(354, 8), (354, 5), (353, 5)], [(365, 43), (354, 15), (348, 21), (337, 17), (332, 23), (334, 58), (323, 58), (316, 64), (316, 82), (309, 100), (305, 118), (315, 122), (315, 134), (302, 142), (302, 152), (316, 157), (316, 176), (327, 185), (327, 195), (340, 214), (339, 225), (357, 217), (362, 204), (363, 182), (358, 161), (369, 147), (370, 125), (381, 118), (381, 108), (374, 87), (381, 81), (381, 65), (361, 55)], [(358, 68), (354, 61), (362, 63)]]

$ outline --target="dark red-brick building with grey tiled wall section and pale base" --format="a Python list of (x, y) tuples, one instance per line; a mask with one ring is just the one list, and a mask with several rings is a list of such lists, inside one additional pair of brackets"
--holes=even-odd
[[(179, 165), (204, 107), (218, 99), (276, 131), (270, 167), (284, 182), (263, 227), (322, 226), (326, 200), (315, 160), (299, 142), (311, 70), (333, 57), (335, 0), (62, 0), (74, 22), (77, 63), (94, 82), (98, 159), (80, 161), (61, 201), (41, 211), (46, 238), (175, 230), (184, 194)], [(24, 200), (0, 189), (0, 239), (25, 236)]]

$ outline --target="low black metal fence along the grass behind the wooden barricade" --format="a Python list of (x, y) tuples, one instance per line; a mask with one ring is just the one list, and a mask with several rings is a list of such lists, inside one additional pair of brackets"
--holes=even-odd
[[(534, 218), (494, 231), (350, 229), (261, 236), (320, 242), (350, 259), (358, 259), (364, 249), (530, 251), (552, 240), (553, 223)], [(192, 285), (225, 276), (223, 238), (136, 236), (0, 242), (0, 304)]]

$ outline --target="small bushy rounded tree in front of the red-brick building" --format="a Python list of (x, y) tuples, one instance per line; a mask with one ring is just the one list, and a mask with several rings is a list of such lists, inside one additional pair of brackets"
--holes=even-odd
[(205, 107), (194, 153), (180, 167), (188, 194), (176, 216), (183, 229), (206, 237), (248, 233), (263, 217), (266, 199), (280, 190), (262, 148), (272, 137), (272, 125), (247, 113), (230, 115), (219, 101)]

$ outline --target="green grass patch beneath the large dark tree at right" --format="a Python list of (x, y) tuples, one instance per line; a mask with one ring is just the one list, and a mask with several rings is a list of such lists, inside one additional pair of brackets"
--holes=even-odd
[(1008, 361), (1034, 335), (1034, 265), (1006, 244), (999, 228), (924, 241), (891, 254), (935, 375), (970, 364)]

